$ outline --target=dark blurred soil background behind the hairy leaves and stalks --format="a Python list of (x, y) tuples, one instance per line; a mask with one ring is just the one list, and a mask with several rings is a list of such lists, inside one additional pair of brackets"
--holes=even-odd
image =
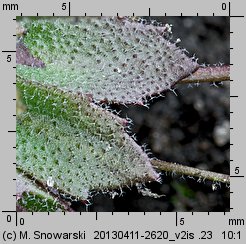
[[(230, 63), (228, 17), (151, 17), (172, 24), (178, 45), (196, 55), (200, 64)], [(146, 17), (150, 21), (149, 17)], [(147, 145), (151, 157), (199, 169), (229, 174), (230, 92), (223, 84), (177, 85), (175, 92), (149, 101), (149, 109), (139, 106), (112, 106), (120, 116), (133, 121), (132, 133), (139, 145)], [(162, 184), (151, 183), (159, 199), (143, 197), (136, 188), (123, 189), (123, 196), (111, 199), (96, 194), (89, 211), (229, 211), (229, 187), (198, 182), (187, 176), (162, 174)], [(74, 202), (73, 208), (85, 211)]]

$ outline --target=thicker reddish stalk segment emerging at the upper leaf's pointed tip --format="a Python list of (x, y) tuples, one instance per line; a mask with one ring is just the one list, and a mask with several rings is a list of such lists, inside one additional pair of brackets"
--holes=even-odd
[(197, 83), (197, 82), (218, 82), (230, 80), (230, 66), (209, 66), (200, 67), (190, 76), (180, 80), (179, 84)]

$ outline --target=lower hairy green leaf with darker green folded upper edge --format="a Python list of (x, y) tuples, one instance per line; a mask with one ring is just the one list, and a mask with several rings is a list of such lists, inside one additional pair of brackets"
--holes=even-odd
[(124, 120), (88, 97), (17, 77), (26, 111), (17, 116), (17, 168), (43, 185), (87, 199), (158, 180), (148, 156), (124, 132)]

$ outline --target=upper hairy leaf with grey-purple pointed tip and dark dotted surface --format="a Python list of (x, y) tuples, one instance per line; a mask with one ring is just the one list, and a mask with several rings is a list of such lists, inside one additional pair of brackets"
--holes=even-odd
[(17, 44), (17, 74), (90, 94), (97, 102), (143, 104), (198, 68), (165, 39), (168, 26), (116, 17), (84, 17), (76, 25), (66, 18), (31, 20), (24, 26), (26, 34)]

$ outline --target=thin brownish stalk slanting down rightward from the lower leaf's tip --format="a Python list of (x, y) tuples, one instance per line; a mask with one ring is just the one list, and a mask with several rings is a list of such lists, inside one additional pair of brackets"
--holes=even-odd
[(230, 176), (225, 174), (219, 174), (207, 170), (201, 170), (189, 166), (184, 166), (181, 164), (170, 163), (166, 161), (161, 161), (157, 159), (151, 160), (152, 165), (161, 171), (176, 173), (180, 175), (187, 175), (191, 177), (197, 177), (203, 180), (211, 180), (221, 183), (230, 184)]

